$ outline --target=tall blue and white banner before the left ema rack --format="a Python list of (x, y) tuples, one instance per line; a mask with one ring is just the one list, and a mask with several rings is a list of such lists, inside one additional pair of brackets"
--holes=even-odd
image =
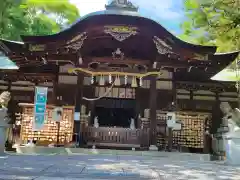
[(35, 87), (34, 102), (34, 123), (33, 130), (39, 131), (44, 127), (46, 105), (47, 105), (47, 87)]

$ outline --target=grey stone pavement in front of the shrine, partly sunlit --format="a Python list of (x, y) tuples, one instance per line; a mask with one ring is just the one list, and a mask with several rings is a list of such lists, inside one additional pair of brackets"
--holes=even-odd
[(240, 167), (133, 155), (8, 155), (0, 156), (0, 179), (240, 180)]

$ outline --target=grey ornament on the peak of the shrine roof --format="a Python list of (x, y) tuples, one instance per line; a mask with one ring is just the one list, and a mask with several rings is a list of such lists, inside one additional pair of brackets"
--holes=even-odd
[(138, 7), (134, 6), (129, 0), (112, 0), (109, 4), (105, 5), (107, 10), (127, 10), (138, 11)]

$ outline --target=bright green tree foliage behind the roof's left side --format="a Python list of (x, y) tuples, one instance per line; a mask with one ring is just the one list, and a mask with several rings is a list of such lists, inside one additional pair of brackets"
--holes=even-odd
[(68, 0), (0, 0), (0, 38), (19, 41), (20, 35), (59, 32), (79, 18)]

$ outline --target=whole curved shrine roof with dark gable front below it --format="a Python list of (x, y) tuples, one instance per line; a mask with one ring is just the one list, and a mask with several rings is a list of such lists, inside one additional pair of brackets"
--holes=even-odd
[[(239, 52), (215, 54), (216, 46), (184, 42), (158, 22), (140, 15), (137, 8), (128, 8), (128, 1), (124, 0), (124, 8), (118, 6), (119, 2), (105, 11), (81, 17), (57, 34), (22, 36), (23, 42), (0, 40), (0, 48), (20, 67), (33, 67), (48, 59), (70, 60), (77, 64), (79, 54), (83, 57), (109, 57), (120, 48), (126, 57), (158, 61), (166, 66), (201, 69), (207, 77), (224, 69), (238, 56)], [(106, 33), (106, 28), (111, 32)], [(114, 29), (119, 32), (112, 31)], [(129, 30), (129, 36), (117, 39), (117, 33), (120, 33), (120, 38), (129, 33), (125, 30)]]

